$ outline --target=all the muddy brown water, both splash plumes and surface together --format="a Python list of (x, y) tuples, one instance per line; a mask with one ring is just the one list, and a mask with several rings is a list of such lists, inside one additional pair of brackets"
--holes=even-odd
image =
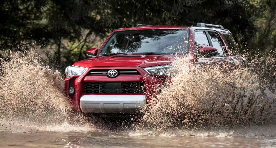
[[(151, 109), (125, 122), (75, 112), (60, 73), (37, 57), (1, 60), (0, 147), (276, 147), (273, 71), (187, 71), (181, 62)], [(256, 63), (265, 71), (275, 59)]]

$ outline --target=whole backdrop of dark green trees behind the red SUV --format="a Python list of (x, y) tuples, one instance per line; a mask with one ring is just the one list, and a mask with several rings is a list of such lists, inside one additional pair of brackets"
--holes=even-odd
[(47, 49), (44, 52), (53, 64), (72, 64), (84, 59), (87, 48), (94, 42), (103, 42), (102, 38), (115, 29), (138, 23), (190, 26), (198, 22), (221, 24), (236, 40), (249, 42), (251, 47), (272, 48), (276, 34), (274, 3), (272, 0), (1, 0), (0, 50), (39, 47)]

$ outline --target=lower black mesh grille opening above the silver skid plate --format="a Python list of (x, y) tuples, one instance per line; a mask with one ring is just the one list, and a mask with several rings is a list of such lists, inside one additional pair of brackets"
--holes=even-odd
[(145, 82), (85, 82), (85, 93), (145, 93)]

